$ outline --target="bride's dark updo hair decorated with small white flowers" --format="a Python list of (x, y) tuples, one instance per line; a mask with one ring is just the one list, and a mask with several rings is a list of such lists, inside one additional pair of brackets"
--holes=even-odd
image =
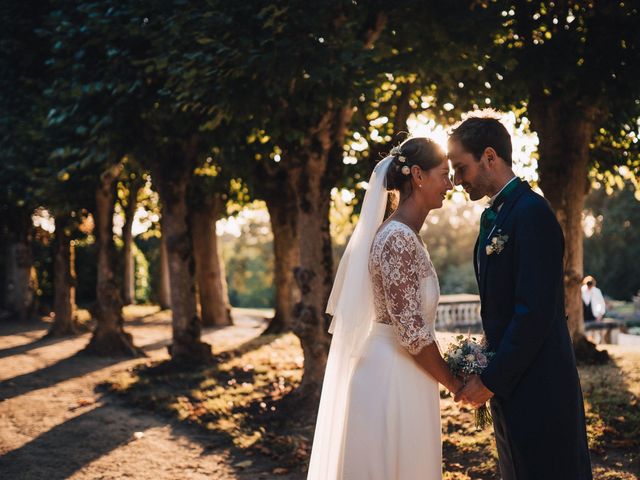
[(417, 165), (425, 172), (437, 167), (445, 159), (442, 148), (424, 137), (409, 138), (391, 149), (393, 161), (387, 171), (387, 190), (407, 193), (411, 188), (411, 167)]

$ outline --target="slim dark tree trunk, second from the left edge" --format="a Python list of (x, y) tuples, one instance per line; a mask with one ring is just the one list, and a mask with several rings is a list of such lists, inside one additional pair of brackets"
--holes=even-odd
[(76, 309), (75, 247), (69, 235), (70, 219), (56, 217), (53, 266), (53, 325), (49, 336), (73, 335), (78, 332)]

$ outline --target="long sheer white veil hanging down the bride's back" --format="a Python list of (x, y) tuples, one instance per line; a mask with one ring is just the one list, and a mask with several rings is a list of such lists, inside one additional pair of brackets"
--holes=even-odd
[(335, 480), (340, 476), (342, 444), (354, 367), (375, 318), (369, 251), (384, 219), (386, 176), (393, 161), (380, 161), (369, 179), (360, 219), (340, 260), (327, 313), (333, 315), (333, 334), (322, 385), (313, 438), (308, 480)]

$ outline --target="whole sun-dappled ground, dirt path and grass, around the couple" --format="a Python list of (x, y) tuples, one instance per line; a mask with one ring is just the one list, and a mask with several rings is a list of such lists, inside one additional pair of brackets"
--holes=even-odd
[[(127, 307), (125, 328), (148, 358), (79, 354), (88, 334), (40, 340), (48, 324), (0, 332), (0, 468), (11, 478), (304, 478), (313, 414), (291, 394), (303, 357), (292, 334), (265, 335), (271, 312), (238, 310), (207, 328), (216, 362), (168, 362), (170, 312)], [(445, 348), (453, 334), (439, 334)], [(637, 478), (640, 351), (580, 367), (596, 479)], [(444, 479), (497, 480), (493, 431), (441, 394)], [(78, 439), (82, 439), (79, 442)], [(37, 459), (37, 461), (36, 461)], [(52, 473), (53, 472), (53, 473)], [(29, 477), (31, 475), (31, 477)]]

